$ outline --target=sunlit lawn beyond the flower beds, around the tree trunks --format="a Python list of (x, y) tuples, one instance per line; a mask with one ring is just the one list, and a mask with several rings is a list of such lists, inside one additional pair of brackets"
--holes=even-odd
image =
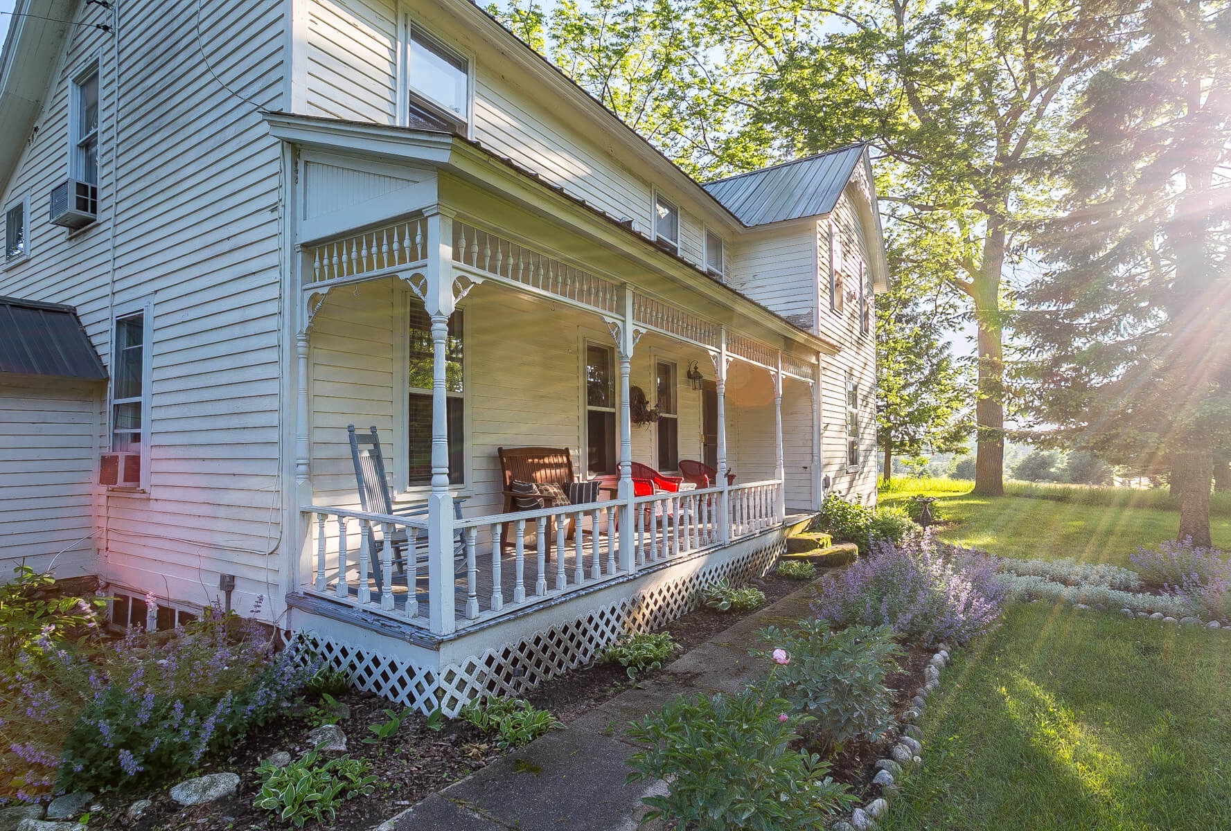
[[(902, 504), (910, 492), (881, 494), (881, 505)], [(1075, 505), (1023, 496), (940, 496), (942, 516), (954, 524), (938, 536), (953, 543), (985, 548), (1002, 556), (1057, 559), (1129, 565), (1139, 544), (1173, 539), (1179, 512), (1157, 508)], [(1210, 523), (1214, 544), (1231, 549), (1231, 517)]]

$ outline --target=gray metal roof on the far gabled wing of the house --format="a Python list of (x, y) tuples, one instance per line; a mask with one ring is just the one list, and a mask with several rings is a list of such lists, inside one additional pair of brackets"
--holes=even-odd
[(864, 151), (863, 144), (753, 170), (705, 185), (710, 196), (750, 228), (819, 217), (833, 209)]

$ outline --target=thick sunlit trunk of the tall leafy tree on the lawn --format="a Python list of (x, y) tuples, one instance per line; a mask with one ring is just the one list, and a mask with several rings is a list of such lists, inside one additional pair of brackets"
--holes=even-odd
[(980, 496), (1004, 494), (1004, 353), (1001, 343), (1001, 268), (1004, 222), (987, 220), (984, 261), (971, 281), (979, 327), (979, 399), (975, 401), (975, 490)]

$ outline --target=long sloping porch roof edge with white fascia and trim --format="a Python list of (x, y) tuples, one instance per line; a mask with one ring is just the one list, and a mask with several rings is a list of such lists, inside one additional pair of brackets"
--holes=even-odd
[(808, 343), (811, 348), (828, 355), (837, 355), (842, 350), (841, 343), (812, 334), (731, 286), (715, 281), (699, 266), (689, 262), (678, 254), (662, 250), (655, 245), (654, 240), (630, 228), (618, 217), (613, 217), (585, 199), (570, 195), (561, 186), (553, 185), (534, 171), (522, 167), (512, 159), (487, 149), (479, 142), (465, 139), (453, 133), (415, 127), (373, 124), (369, 122), (352, 122), (286, 112), (265, 113), (265, 119), (268, 122), (270, 129), (276, 138), (292, 144), (377, 154), (388, 158), (400, 156), (406, 161), (427, 163), (436, 166), (463, 170), (468, 177), (473, 177), (473, 171), (464, 169), (467, 158), (474, 158), (478, 154), (478, 158), (474, 160), (480, 164), (497, 161), (537, 191), (550, 193), (558, 199), (564, 199), (569, 204), (581, 208), (587, 214), (599, 218), (604, 225), (614, 229), (619, 235), (634, 239), (645, 256), (659, 259), (661, 262), (670, 262), (675, 267), (683, 266), (689, 272), (688, 276), (691, 278), (702, 278), (688, 281), (687, 284), (689, 288), (699, 289), (710, 295), (725, 295), (728, 298), (725, 305), (731, 310), (747, 314), (750, 318), (777, 330), (782, 335)]

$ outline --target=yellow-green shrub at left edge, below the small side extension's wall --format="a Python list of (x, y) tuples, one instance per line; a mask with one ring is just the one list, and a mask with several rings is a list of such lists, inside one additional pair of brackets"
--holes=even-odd
[(0, 681), (11, 676), (18, 655), (37, 659), (57, 641), (96, 632), (107, 606), (101, 597), (57, 596), (50, 572), (22, 564), (14, 574), (0, 584)]

